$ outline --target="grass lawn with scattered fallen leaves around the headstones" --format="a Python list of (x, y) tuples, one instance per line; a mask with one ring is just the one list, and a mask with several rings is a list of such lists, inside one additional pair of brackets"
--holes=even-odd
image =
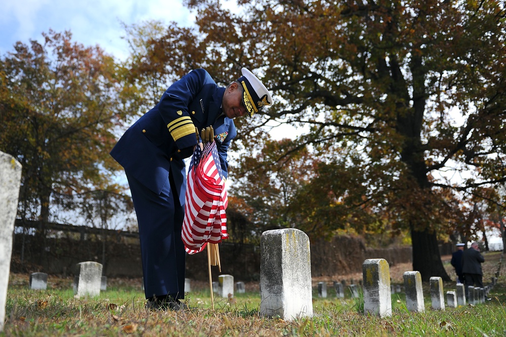
[[(485, 255), (484, 283), (497, 271), (499, 252)], [(430, 308), (429, 284), (424, 284), (425, 313), (406, 310), (403, 293), (392, 294), (392, 317), (378, 318), (360, 313), (361, 300), (336, 299), (329, 283), (328, 297), (318, 298), (313, 287), (312, 318), (284, 321), (259, 315), (260, 293), (246, 287), (233, 299), (215, 296), (211, 309), (206, 282), (192, 284), (187, 311), (149, 311), (138, 280), (114, 279), (96, 298), (74, 298), (71, 279), (50, 275), (48, 290), (28, 289), (29, 275), (11, 275), (7, 294), (6, 336), (334, 336), (334, 335), (506, 335), (506, 282), (504, 262), (491, 301), (476, 306)], [(448, 263), (445, 263), (448, 267)], [(451, 267), (451, 266), (450, 266)], [(408, 269), (407, 269), (408, 270)], [(394, 275), (394, 273), (392, 273)], [(400, 275), (402, 275), (400, 273)], [(357, 278), (355, 278), (357, 279)], [(398, 276), (393, 283), (400, 283)], [(315, 281), (313, 282), (315, 284)], [(193, 289), (195, 288), (195, 289)], [(248, 290), (249, 288), (249, 290)], [(251, 288), (253, 290), (251, 290)], [(454, 290), (453, 283), (444, 292)]]

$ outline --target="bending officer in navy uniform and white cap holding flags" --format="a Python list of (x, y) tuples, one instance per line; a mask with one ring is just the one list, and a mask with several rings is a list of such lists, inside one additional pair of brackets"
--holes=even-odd
[(123, 166), (139, 224), (147, 307), (184, 307), (184, 158), (197, 145), (195, 128), (212, 126), (225, 178), (227, 150), (237, 135), (233, 118), (250, 117), (271, 105), (272, 96), (249, 70), (226, 88), (204, 69), (196, 69), (169, 87), (158, 104), (130, 127), (111, 155)]

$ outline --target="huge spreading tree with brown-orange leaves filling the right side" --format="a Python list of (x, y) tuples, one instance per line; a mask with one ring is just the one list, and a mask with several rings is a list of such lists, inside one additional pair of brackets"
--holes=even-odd
[(234, 12), (213, 0), (188, 6), (197, 11), (197, 29), (171, 25), (154, 41), (164, 62), (158, 69), (206, 67), (222, 84), (242, 66), (256, 69), (276, 102), (239, 121), (249, 137), (235, 146), (261, 142), (254, 130), (272, 121), (306, 125), (291, 151), (310, 146), (321, 163), (310, 185), (324, 188), (305, 194), (316, 199), (301, 209), (318, 215), (306, 219), (325, 219), (331, 229), (343, 226), (332, 219), (372, 226), (379, 217), (407, 229), (413, 269), (424, 280), (448, 280), (437, 239), (456, 217), (455, 202), (506, 180), (503, 3), (240, 0)]

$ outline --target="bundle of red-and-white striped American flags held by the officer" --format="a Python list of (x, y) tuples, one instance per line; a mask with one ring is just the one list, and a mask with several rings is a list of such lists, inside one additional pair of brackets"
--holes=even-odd
[(186, 180), (185, 218), (181, 236), (188, 254), (196, 254), (207, 242), (219, 243), (228, 238), (228, 205), (225, 177), (216, 143), (197, 145)]

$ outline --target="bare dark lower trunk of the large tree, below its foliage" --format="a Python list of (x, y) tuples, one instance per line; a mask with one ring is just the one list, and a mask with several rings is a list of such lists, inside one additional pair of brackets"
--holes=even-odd
[(423, 281), (440, 276), (443, 281), (451, 281), (441, 262), (436, 232), (411, 230), (413, 245), (413, 270), (419, 271)]

